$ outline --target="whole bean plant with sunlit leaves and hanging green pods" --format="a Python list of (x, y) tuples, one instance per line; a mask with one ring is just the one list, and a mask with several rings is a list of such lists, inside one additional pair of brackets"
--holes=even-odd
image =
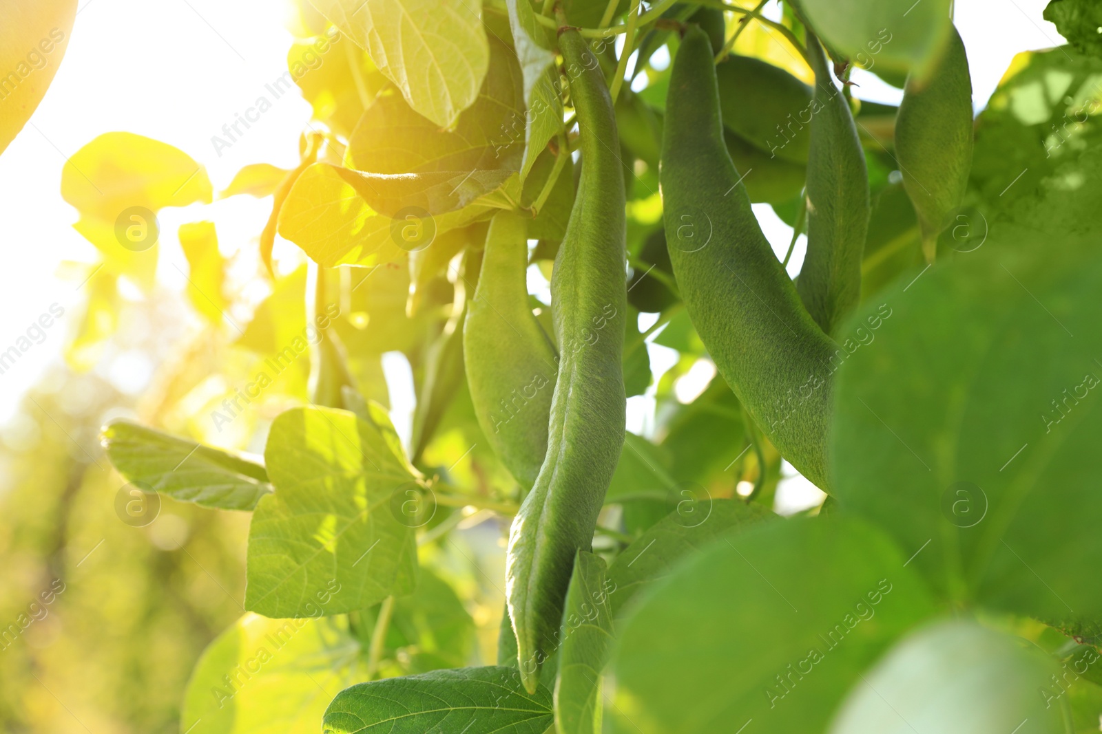
[[(152, 287), (158, 211), (272, 202), (242, 324), (215, 224), (180, 231), (240, 386), (101, 436), (136, 495), (251, 513), (181, 731), (1098, 731), (1102, 17), (1054, 0), (1068, 45), (974, 113), (951, 4), (310, 0), (298, 167), (74, 154), (75, 364)], [(0, 45), (60, 55), (74, 8), (14, 6)], [(782, 461), (819, 506), (775, 512)], [(456, 571), (487, 519), (504, 566)]]

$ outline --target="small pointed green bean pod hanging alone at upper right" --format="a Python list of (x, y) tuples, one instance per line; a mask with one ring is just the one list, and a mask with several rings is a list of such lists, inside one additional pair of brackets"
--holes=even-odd
[(908, 77), (895, 145), (903, 185), (922, 229), (922, 251), (933, 262), (938, 234), (964, 199), (972, 169), (972, 77), (955, 28), (922, 83)]

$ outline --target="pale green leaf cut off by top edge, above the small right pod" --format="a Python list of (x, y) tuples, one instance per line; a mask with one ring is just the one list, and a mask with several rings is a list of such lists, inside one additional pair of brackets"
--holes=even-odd
[(950, 0), (797, 0), (795, 3), (832, 50), (862, 64), (921, 75), (949, 39)]

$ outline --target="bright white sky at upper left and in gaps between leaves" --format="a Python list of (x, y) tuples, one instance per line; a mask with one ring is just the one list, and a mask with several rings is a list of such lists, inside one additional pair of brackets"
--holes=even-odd
[[(1062, 42), (1041, 20), (1045, 4), (957, 0), (957, 24), (969, 52), (977, 108), (1015, 53)], [(72, 229), (76, 213), (62, 200), (60, 184), (66, 156), (95, 136), (125, 130), (175, 145), (206, 166), (216, 190), (249, 163), (294, 166), (299, 133), (310, 118), (310, 106), (296, 96), (277, 100), (222, 156), (210, 142), (223, 124), (263, 94), (264, 84), (287, 69), (291, 35), (282, 9), (272, 0), (82, 0), (53, 86), (31, 124), (0, 156), (0, 242), (8, 253), (8, 266), (0, 270), (0, 351), (54, 303), (65, 308), (67, 321), (79, 316), (82, 294), (76, 287), (83, 276), (64, 274), (61, 264), (95, 262), (96, 251)], [(861, 94), (898, 101), (890, 88), (868, 83)], [(214, 218), (224, 250), (248, 245), (263, 227), (269, 207), (249, 197), (218, 205)], [(767, 237), (784, 253), (791, 230), (768, 207), (759, 209)], [(183, 286), (174, 264), (186, 270), (175, 244), (176, 228), (195, 217), (184, 210), (161, 215), (160, 274), (170, 285)], [(793, 263), (801, 260), (798, 251)], [(60, 359), (63, 329), (72, 326), (53, 327), (43, 343), (0, 375), (0, 420), (43, 368)], [(659, 350), (652, 355), (656, 368), (669, 364)], [(711, 372), (701, 369), (694, 374), (706, 380)], [(692, 394), (692, 388), (679, 386), (679, 392)], [(642, 416), (635, 420), (640, 423)]]

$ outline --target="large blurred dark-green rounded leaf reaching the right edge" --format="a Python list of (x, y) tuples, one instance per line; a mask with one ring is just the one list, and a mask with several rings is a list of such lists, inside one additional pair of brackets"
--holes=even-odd
[(877, 297), (893, 316), (842, 362), (831, 447), (842, 510), (939, 592), (1071, 629), (1102, 621), (1083, 581), (1102, 563), (1099, 153), (982, 250)]

